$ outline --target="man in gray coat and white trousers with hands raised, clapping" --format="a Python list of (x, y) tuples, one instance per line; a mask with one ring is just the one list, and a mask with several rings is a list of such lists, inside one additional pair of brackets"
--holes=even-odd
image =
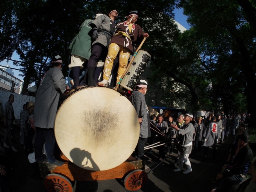
[(171, 125), (174, 129), (178, 130), (180, 134), (182, 135), (181, 141), (180, 141), (180, 158), (179, 158), (179, 168), (175, 169), (174, 171), (182, 171), (183, 168), (183, 163), (187, 165), (187, 170), (183, 171), (184, 174), (190, 173), (192, 171), (191, 168), (191, 163), (189, 160), (189, 154), (192, 151), (192, 141), (193, 141), (193, 132), (194, 132), (194, 127), (192, 123), (190, 123), (192, 119), (191, 114), (186, 114), (184, 121), (186, 122), (186, 125), (182, 128), (179, 129), (177, 124), (176, 125)]

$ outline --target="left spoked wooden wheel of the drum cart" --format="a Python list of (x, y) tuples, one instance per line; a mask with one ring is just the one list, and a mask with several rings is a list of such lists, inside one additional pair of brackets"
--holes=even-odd
[(72, 192), (71, 182), (64, 176), (51, 173), (45, 176), (44, 185), (49, 192)]

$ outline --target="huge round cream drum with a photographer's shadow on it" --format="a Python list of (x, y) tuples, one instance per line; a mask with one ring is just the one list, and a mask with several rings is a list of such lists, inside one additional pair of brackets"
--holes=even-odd
[(131, 102), (104, 87), (69, 96), (58, 110), (55, 137), (63, 154), (88, 170), (108, 170), (123, 163), (139, 139), (139, 119)]

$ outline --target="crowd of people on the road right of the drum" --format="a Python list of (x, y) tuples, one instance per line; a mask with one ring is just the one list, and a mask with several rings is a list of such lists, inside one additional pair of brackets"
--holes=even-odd
[[(166, 155), (177, 152), (177, 162), (174, 172), (182, 171), (183, 164), (186, 165), (184, 174), (192, 172), (189, 155), (191, 153), (196, 154), (201, 151), (202, 161), (208, 157), (209, 147), (212, 148), (212, 158), (216, 158), (216, 146), (221, 144), (227, 137), (234, 137), (233, 143), (230, 146), (230, 152), (227, 154), (223, 167), (220, 167), (220, 172), (216, 178), (213, 178), (214, 191), (229, 191), (232, 185), (241, 183), (248, 172), (252, 175), (251, 179), (241, 184), (242, 187), (238, 188), (239, 192), (242, 191), (255, 191), (256, 189), (256, 159), (253, 160), (253, 153), (248, 146), (249, 135), (245, 128), (243, 119), (239, 118), (240, 115), (232, 115), (226, 117), (224, 114), (220, 114), (217, 117), (209, 115), (207, 118), (198, 116), (197, 121), (191, 114), (181, 114), (178, 116), (177, 121), (174, 121), (173, 116), (163, 118), (162, 114), (158, 116), (151, 116), (151, 138), (148, 140), (149, 144), (156, 142), (156, 135), (158, 140), (166, 142), (167, 150), (165, 151), (165, 145), (157, 147), (159, 150), (158, 157), (152, 159), (153, 161), (163, 160)], [(236, 133), (235, 130), (238, 130)], [(165, 134), (160, 136), (159, 133)], [(153, 141), (153, 142), (152, 142)], [(152, 154), (151, 151), (147, 154)], [(149, 160), (148, 157), (144, 157), (144, 160)]]

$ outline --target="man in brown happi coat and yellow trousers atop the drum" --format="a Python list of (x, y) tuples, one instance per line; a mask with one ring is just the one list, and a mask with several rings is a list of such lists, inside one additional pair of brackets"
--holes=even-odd
[(116, 34), (111, 39), (107, 58), (104, 63), (103, 80), (98, 83), (99, 86), (107, 87), (114, 60), (119, 54), (119, 67), (116, 79), (116, 83), (118, 83), (128, 65), (130, 54), (134, 51), (134, 43), (138, 43), (143, 38), (149, 37), (139, 25), (135, 24), (138, 17), (138, 11), (131, 11), (126, 17), (126, 21), (117, 24)]

